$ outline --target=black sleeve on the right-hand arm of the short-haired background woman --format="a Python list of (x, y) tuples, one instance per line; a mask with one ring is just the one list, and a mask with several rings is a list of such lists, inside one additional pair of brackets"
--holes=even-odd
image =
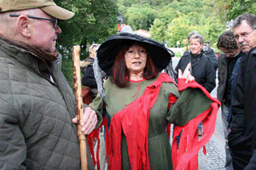
[(204, 84), (204, 88), (207, 89), (209, 93), (212, 92), (213, 88), (216, 87), (216, 71), (210, 59), (207, 60), (207, 82)]

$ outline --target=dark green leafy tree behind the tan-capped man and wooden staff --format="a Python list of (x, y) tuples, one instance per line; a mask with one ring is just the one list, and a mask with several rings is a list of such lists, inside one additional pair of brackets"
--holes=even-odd
[(92, 42), (102, 43), (116, 32), (118, 8), (114, 0), (55, 0), (62, 8), (75, 13), (71, 20), (60, 21), (58, 51), (63, 55), (62, 71), (73, 87), (73, 45), (81, 46), (81, 59), (88, 57), (86, 47)]

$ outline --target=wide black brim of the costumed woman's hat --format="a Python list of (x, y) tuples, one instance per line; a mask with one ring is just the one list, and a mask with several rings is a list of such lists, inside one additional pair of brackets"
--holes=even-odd
[(136, 34), (119, 33), (109, 37), (97, 50), (97, 58), (102, 71), (105, 71), (110, 75), (114, 60), (116, 59), (119, 50), (128, 41), (143, 43), (158, 71), (165, 69), (169, 64), (170, 59), (174, 56), (173, 52), (171, 50), (168, 51), (163, 43)]

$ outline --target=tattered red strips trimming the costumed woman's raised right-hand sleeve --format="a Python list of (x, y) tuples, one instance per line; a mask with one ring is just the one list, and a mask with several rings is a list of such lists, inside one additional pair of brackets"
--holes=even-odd
[[(196, 82), (185, 83), (184, 79), (178, 79), (178, 90), (183, 91), (186, 88), (201, 88), (204, 94), (207, 95), (209, 99), (212, 99), (211, 107), (203, 112), (201, 115), (196, 116), (193, 120), (190, 120), (183, 127), (174, 127), (173, 140), (172, 140), (172, 160), (173, 168), (175, 170), (188, 170), (198, 169), (198, 151), (211, 139), (214, 133), (216, 118), (218, 113), (218, 107), (220, 102), (216, 98), (207, 92), (205, 88)], [(203, 124), (203, 135), (200, 140), (198, 140), (198, 125), (202, 121)], [(183, 133), (180, 138), (179, 148), (177, 152), (177, 135)], [(207, 151), (204, 147), (204, 153)]]

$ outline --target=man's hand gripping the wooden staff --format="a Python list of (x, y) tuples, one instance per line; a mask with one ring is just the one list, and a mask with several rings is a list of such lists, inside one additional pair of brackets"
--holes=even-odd
[[(77, 116), (73, 118), (72, 122), (78, 123)], [(90, 107), (84, 108), (84, 118), (80, 120), (82, 132), (85, 135), (90, 134), (96, 127), (97, 122), (98, 121), (97, 121), (96, 112), (93, 111)]]

